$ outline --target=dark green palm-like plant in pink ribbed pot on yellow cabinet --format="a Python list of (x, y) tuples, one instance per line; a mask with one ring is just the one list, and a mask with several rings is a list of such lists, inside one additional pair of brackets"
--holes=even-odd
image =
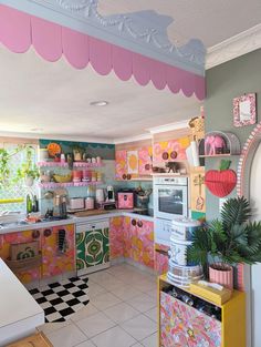
[(209, 280), (233, 287), (233, 267), (237, 264), (261, 262), (261, 222), (249, 222), (251, 208), (244, 197), (229, 198), (215, 220), (195, 232), (188, 258), (201, 263)]

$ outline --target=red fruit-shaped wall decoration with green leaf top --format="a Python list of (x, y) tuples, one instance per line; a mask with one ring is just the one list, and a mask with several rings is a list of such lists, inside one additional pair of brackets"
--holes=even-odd
[(219, 170), (209, 170), (205, 176), (208, 190), (218, 197), (229, 195), (237, 185), (237, 173), (229, 169), (230, 161), (221, 161)]

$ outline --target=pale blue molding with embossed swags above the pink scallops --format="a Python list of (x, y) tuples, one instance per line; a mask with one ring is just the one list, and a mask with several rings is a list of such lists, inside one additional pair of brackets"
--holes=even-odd
[(155, 11), (103, 17), (98, 0), (2, 0), (29, 14), (86, 33), (142, 55), (205, 74), (206, 49), (198, 39), (178, 47), (170, 42), (167, 28), (174, 19)]

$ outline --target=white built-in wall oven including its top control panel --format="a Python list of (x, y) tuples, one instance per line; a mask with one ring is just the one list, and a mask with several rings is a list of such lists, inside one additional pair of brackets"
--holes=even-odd
[(154, 177), (154, 214), (170, 221), (188, 216), (187, 177)]

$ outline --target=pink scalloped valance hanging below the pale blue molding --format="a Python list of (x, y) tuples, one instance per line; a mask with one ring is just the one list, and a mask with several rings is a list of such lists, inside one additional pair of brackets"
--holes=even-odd
[(15, 53), (27, 52), (33, 45), (43, 59), (51, 62), (63, 54), (76, 69), (91, 63), (103, 75), (114, 70), (123, 81), (134, 75), (140, 85), (152, 81), (158, 90), (167, 85), (173, 93), (181, 90), (186, 96), (195, 93), (199, 100), (205, 98), (203, 76), (3, 4), (0, 4), (0, 42)]

